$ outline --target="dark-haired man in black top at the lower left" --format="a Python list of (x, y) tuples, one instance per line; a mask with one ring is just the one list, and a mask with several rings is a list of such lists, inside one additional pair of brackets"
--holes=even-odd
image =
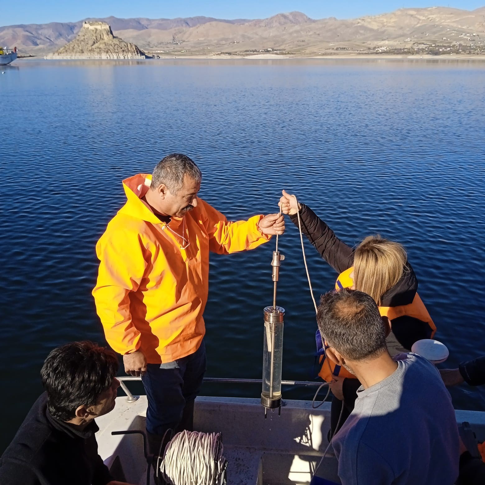
[(123, 485), (97, 453), (94, 419), (113, 410), (118, 361), (88, 341), (54, 349), (41, 370), (46, 392), (0, 458), (1, 485)]

